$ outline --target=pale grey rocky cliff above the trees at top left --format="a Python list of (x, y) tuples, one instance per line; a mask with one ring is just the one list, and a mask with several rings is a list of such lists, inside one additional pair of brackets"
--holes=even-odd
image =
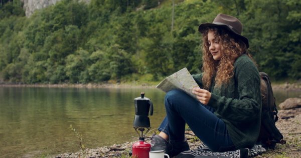
[[(49, 5), (54, 5), (56, 2), (61, 0), (21, 0), (24, 2), (23, 8), (25, 9), (25, 14), (27, 17), (30, 17), (36, 9), (42, 9)], [(90, 2), (90, 0), (79, 0)]]

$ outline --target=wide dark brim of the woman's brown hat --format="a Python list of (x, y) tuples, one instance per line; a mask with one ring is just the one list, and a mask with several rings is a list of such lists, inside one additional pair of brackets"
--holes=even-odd
[(198, 29), (199, 32), (203, 33), (203, 32), (206, 30), (206, 28), (207, 28), (208, 26), (221, 27), (221, 28), (224, 28), (224, 29), (226, 29), (226, 30), (228, 30), (228, 31), (230, 31), (230, 32), (232, 32), (232, 33), (234, 33), (236, 36), (238, 36), (238, 37), (246, 44), (247, 48), (249, 48), (249, 40), (248, 40), (248, 38), (245, 37), (245, 36), (243, 36), (243, 35), (240, 35), (240, 34), (234, 32), (234, 31), (233, 31), (228, 25), (226, 25), (226, 24), (201, 23), (201, 24), (199, 25), (199, 29)]

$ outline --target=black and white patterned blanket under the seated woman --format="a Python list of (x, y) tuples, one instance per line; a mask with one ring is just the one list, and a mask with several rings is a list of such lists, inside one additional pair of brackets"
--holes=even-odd
[(256, 144), (251, 149), (242, 148), (235, 151), (214, 152), (210, 150), (208, 146), (203, 143), (197, 149), (181, 152), (177, 156), (177, 158), (203, 157), (199, 155), (204, 155), (204, 157), (216, 156), (216, 157), (231, 157), (231, 158), (247, 158), (247, 157), (254, 157), (258, 154), (265, 152), (266, 150), (267, 150), (266, 147)]

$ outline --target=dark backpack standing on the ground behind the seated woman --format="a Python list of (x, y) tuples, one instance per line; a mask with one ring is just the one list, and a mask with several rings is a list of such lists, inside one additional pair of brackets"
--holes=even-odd
[(261, 77), (261, 94), (262, 94), (262, 111), (261, 125), (257, 143), (264, 144), (268, 148), (274, 148), (276, 143), (284, 144), (286, 141), (283, 135), (277, 129), (275, 122), (278, 120), (278, 110), (276, 99), (273, 94), (271, 82), (268, 75), (260, 72)]

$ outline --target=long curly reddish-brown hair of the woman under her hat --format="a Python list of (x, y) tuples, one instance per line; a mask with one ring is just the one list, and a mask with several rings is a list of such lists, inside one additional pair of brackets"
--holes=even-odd
[[(214, 60), (213, 55), (210, 53), (208, 44), (208, 32), (210, 30), (214, 32), (214, 35), (221, 46), (221, 50), (224, 53), (220, 60)], [(204, 89), (209, 90), (214, 76), (215, 87), (221, 87), (222, 85), (227, 86), (230, 82), (230, 78), (234, 75), (234, 62), (243, 53), (247, 54), (255, 63), (247, 50), (246, 44), (233, 33), (218, 27), (208, 27), (203, 32), (202, 36), (201, 46), (203, 52), (202, 72)]]

